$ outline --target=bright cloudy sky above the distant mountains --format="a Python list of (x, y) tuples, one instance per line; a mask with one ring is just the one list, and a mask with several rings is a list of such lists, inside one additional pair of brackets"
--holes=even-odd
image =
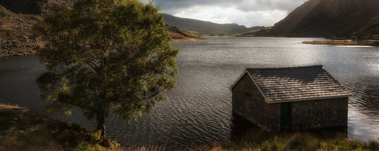
[(268, 27), (285, 18), (306, 1), (308, 0), (154, 0), (153, 3), (160, 6), (162, 13), (176, 17), (218, 24)]

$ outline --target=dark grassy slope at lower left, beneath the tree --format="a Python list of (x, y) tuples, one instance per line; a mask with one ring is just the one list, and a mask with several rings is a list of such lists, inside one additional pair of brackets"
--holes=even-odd
[(121, 150), (109, 141), (74, 123), (0, 105), (0, 150)]

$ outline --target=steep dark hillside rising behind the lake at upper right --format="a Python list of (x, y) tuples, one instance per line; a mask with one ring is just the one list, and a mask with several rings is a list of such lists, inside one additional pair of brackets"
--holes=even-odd
[(234, 36), (350, 37), (379, 35), (379, 1), (310, 0), (265, 31)]

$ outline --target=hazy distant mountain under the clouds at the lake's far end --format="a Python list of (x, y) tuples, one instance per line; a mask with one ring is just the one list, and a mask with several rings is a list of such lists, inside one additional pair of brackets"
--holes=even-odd
[(216, 24), (195, 19), (179, 18), (168, 14), (164, 14), (164, 20), (166, 24), (170, 26), (175, 26), (195, 34), (206, 36), (231, 35), (264, 28), (261, 26), (247, 28), (246, 26), (237, 24)]

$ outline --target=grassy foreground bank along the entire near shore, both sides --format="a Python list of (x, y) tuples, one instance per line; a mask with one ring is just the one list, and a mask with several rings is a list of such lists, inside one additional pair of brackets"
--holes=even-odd
[[(107, 144), (108, 141), (108, 144)], [(0, 150), (178, 150), (147, 146), (119, 148), (79, 125), (26, 108), (0, 105)], [(379, 150), (378, 140), (347, 139), (346, 133), (266, 132), (251, 129), (234, 142), (214, 142), (184, 150)]]

